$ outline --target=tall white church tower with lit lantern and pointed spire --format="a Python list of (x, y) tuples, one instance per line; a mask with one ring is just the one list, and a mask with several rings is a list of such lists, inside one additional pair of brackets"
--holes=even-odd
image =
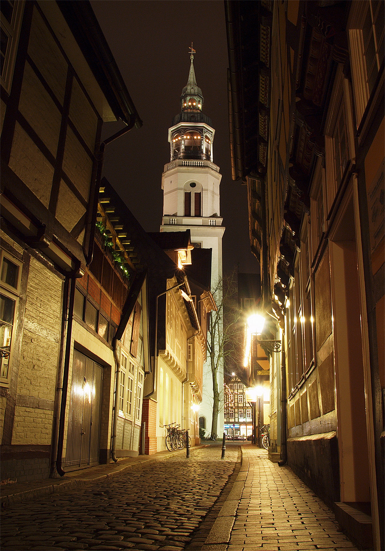
[[(191, 46), (191, 64), (188, 80), (181, 95), (181, 112), (173, 118), (169, 128), (170, 163), (162, 174), (163, 218), (160, 231), (191, 232), (195, 247), (212, 249), (212, 290), (222, 277), (222, 237), (225, 231), (219, 208), (219, 166), (213, 163), (215, 130), (210, 117), (205, 115), (202, 90), (194, 72)], [(219, 303), (218, 295), (216, 301)], [(208, 359), (209, 360), (209, 359)], [(218, 373), (220, 407), (217, 434), (223, 434), (223, 366)], [(213, 381), (210, 363), (203, 372), (203, 401), (199, 417), (210, 432), (213, 412)]]

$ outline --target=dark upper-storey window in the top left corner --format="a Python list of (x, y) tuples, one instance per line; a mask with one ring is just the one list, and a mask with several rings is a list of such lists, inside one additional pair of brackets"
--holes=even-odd
[(0, 72), (1, 82), (9, 92), (13, 77), (16, 51), (18, 47), (21, 18), (23, 17), (24, 1), (2, 0), (1, 10), (1, 41), (0, 41)]

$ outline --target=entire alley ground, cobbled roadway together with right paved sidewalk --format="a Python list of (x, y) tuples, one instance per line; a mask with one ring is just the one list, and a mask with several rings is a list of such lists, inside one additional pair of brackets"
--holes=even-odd
[(1, 548), (357, 549), (289, 467), (235, 442), (226, 443), (224, 459), (216, 442), (192, 449), (188, 459), (171, 452), (84, 488), (10, 505), (2, 514)]

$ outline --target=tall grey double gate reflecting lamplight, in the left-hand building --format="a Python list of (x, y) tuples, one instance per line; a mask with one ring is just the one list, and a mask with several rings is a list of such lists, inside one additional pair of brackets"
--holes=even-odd
[(102, 366), (74, 350), (66, 467), (99, 463), (102, 378)]

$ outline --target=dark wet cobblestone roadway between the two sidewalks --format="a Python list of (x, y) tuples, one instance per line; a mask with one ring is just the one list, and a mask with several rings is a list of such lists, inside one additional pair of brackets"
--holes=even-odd
[(238, 446), (191, 450), (164, 461), (2, 512), (2, 551), (180, 551), (240, 461)]

